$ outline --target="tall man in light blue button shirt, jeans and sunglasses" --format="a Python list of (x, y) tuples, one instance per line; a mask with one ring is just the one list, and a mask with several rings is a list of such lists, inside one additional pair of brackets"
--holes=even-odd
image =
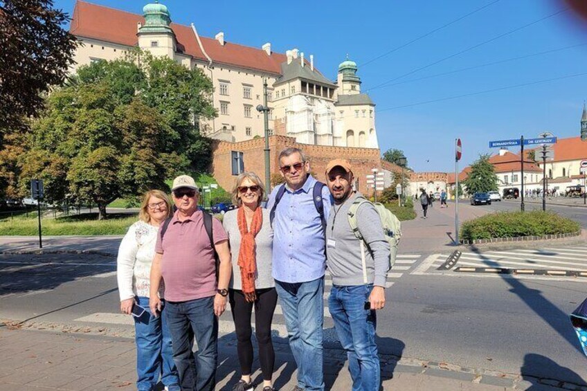
[(283, 150), (279, 164), (285, 184), (273, 189), (267, 209), (273, 226), (273, 278), (298, 365), (293, 390), (324, 390), (325, 221), (330, 194), (309, 174), (300, 149)]

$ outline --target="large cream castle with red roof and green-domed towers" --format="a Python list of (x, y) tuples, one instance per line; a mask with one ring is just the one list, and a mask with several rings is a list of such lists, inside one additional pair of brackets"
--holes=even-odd
[(201, 37), (196, 27), (174, 24), (166, 6), (155, 1), (143, 15), (76, 1), (70, 32), (79, 39), (78, 66), (123, 57), (141, 48), (199, 68), (213, 82), (217, 118), (201, 120), (202, 134), (239, 143), (264, 136), (263, 104), (268, 84), (270, 134), (289, 136), (296, 143), (336, 147), (377, 148), (375, 105), (360, 92), (356, 64), (345, 60), (331, 81), (297, 48), (283, 53), (231, 42), (223, 32)]

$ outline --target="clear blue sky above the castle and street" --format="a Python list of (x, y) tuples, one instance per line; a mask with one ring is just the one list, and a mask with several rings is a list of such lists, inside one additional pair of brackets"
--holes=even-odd
[[(135, 13), (141, 13), (146, 3), (93, 2)], [(381, 151), (402, 149), (417, 171), (454, 170), (456, 137), (462, 139), (464, 167), (481, 153), (496, 152), (488, 148), (489, 140), (536, 137), (545, 130), (559, 137), (579, 135), (587, 75), (418, 104), (587, 73), (587, 33), (573, 21), (572, 12), (532, 24), (566, 8), (560, 0), (161, 2), (173, 21), (193, 22), (201, 35), (214, 37), (224, 31), (227, 41), (259, 48), (271, 42), (273, 51), (299, 48), (306, 56), (314, 54), (316, 66), (328, 78), (336, 77), (338, 64), (349, 53), (359, 64), (363, 92), (377, 104)], [(73, 4), (55, 1), (70, 13)], [(487, 7), (393, 51), (483, 6)], [(527, 24), (532, 25), (406, 75)], [(410, 81), (581, 44), (585, 45)], [(396, 78), (394, 83), (410, 82), (374, 88)]]

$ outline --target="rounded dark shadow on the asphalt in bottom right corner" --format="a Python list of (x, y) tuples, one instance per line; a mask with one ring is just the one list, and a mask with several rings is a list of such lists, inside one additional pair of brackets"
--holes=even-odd
[[(568, 383), (585, 385), (584, 379), (572, 370), (561, 367), (550, 358), (542, 356), (541, 354), (529, 353), (524, 356), (524, 364), (520, 370), (522, 379), (532, 383), (530, 388), (526, 388), (526, 391), (544, 390), (545, 383), (541, 383), (541, 379), (536, 377), (536, 371), (545, 367), (551, 368), (552, 372), (557, 374), (557, 377), (549, 378), (548, 376), (541, 376), (543, 381), (547, 379), (554, 381), (560, 381), (560, 379), (564, 379), (564, 381)], [(559, 386), (561, 386), (561, 384), (559, 384)]]

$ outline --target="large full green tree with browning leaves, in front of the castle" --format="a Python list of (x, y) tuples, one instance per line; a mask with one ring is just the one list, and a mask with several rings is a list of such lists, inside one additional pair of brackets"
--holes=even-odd
[(51, 174), (51, 197), (96, 204), (103, 219), (118, 197), (167, 189), (166, 178), (207, 168), (210, 140), (194, 119), (215, 115), (210, 80), (171, 60), (145, 56), (141, 64), (84, 66), (53, 92), (21, 160), (22, 183)]

